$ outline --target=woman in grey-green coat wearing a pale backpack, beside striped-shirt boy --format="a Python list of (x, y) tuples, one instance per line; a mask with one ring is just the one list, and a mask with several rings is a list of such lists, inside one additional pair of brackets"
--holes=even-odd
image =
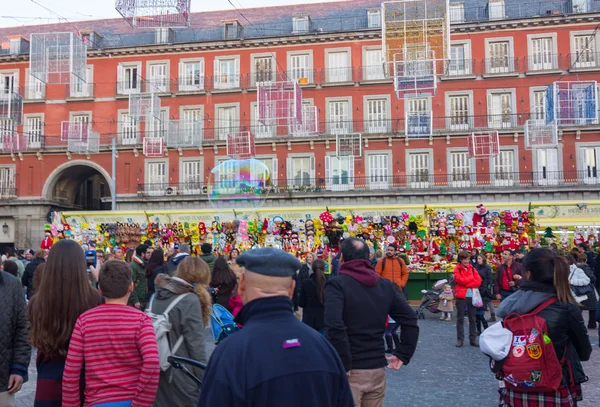
[[(205, 328), (210, 324), (212, 309), (207, 290), (210, 277), (210, 269), (204, 260), (187, 256), (179, 263), (175, 276), (161, 274), (157, 277), (156, 294), (148, 309), (156, 315), (169, 310), (171, 351), (176, 356), (202, 363), (208, 361), (205, 348), (208, 331)], [(188, 368), (202, 379), (203, 370)], [(199, 398), (198, 385), (181, 370), (171, 367), (160, 372), (154, 407), (195, 406)]]

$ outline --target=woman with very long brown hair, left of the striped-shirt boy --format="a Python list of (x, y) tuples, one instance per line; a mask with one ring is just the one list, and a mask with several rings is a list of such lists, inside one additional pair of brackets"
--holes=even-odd
[(31, 344), (38, 348), (34, 407), (62, 405), (62, 376), (77, 318), (102, 302), (88, 278), (83, 249), (74, 240), (52, 246), (27, 316)]

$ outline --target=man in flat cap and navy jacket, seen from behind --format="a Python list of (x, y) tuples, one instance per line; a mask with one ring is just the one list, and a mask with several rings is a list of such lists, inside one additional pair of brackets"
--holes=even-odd
[(219, 343), (199, 407), (353, 407), (346, 370), (335, 349), (293, 311), (301, 264), (280, 249), (250, 250), (243, 268), (236, 317), (243, 328)]

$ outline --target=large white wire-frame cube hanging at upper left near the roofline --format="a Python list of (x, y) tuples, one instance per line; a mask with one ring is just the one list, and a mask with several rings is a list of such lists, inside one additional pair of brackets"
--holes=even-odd
[(46, 84), (86, 82), (87, 46), (77, 34), (31, 34), (29, 71)]

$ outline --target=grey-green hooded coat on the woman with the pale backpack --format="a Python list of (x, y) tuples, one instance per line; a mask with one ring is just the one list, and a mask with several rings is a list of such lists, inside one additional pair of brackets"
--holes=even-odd
[[(208, 361), (205, 349), (207, 330), (202, 321), (202, 307), (194, 293), (194, 287), (177, 277), (159, 274), (156, 277), (155, 288), (152, 309), (149, 310), (155, 314), (165, 312), (177, 296), (189, 293), (169, 313), (169, 322), (171, 323), (169, 336), (172, 345), (181, 336), (184, 338), (183, 343), (175, 352), (176, 356), (206, 363)], [(204, 374), (203, 370), (195, 367), (188, 366), (188, 369), (191, 369), (192, 374), (200, 379)], [(170, 368), (160, 372), (155, 407), (191, 407), (196, 405), (199, 398), (198, 386), (181, 370)]]

